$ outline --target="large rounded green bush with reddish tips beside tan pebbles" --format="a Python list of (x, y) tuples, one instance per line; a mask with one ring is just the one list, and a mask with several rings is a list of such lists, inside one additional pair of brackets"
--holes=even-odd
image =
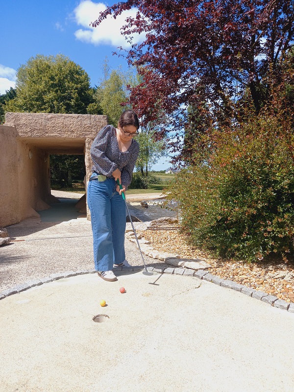
[[(289, 126), (260, 116), (242, 129), (215, 132), (210, 159), (175, 176), (193, 245), (221, 257), (261, 260), (294, 251), (294, 137)], [(187, 186), (189, 184), (189, 186)]]

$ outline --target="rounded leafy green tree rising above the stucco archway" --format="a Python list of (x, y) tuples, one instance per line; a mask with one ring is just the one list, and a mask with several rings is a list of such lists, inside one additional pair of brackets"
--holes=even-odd
[(88, 74), (62, 54), (31, 57), (17, 71), (16, 92), (6, 111), (86, 114), (93, 101)]

